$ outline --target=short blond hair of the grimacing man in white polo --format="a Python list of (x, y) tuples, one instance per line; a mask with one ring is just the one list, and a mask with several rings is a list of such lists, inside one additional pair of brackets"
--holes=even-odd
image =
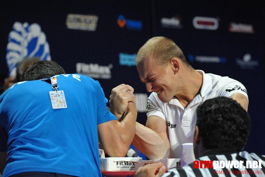
[(136, 66), (151, 55), (159, 65), (166, 65), (172, 58), (179, 58), (183, 63), (189, 66), (182, 50), (173, 40), (166, 37), (152, 37), (138, 51), (136, 55)]

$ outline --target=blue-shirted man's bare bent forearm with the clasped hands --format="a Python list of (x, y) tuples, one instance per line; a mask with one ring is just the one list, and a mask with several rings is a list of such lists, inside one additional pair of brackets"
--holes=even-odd
[(110, 110), (118, 118), (98, 125), (99, 142), (111, 157), (124, 157), (135, 134), (137, 117), (133, 89), (121, 84), (112, 90)]

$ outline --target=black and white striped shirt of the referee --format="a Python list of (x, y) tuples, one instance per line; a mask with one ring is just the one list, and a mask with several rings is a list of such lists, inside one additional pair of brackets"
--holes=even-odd
[[(211, 177), (211, 176), (264, 176), (265, 177), (265, 155), (257, 155), (255, 153), (248, 153), (246, 151), (242, 152), (230, 152), (227, 150), (206, 150), (201, 156), (199, 157), (198, 161), (200, 160), (211, 160), (211, 161), (232, 161), (235, 163), (235, 161), (241, 161), (242, 167), (240, 168), (234, 168), (234, 165), (232, 168), (216, 168), (215, 170), (213, 168), (204, 168), (204, 165), (202, 165), (203, 168), (194, 168), (194, 163), (191, 163), (189, 165), (185, 165), (182, 168), (173, 168), (169, 169), (167, 173), (164, 173), (162, 177)], [(246, 160), (250, 161), (259, 161), (261, 160), (260, 165), (258, 168), (244, 168), (246, 167)], [(261, 168), (259, 168), (261, 167)]]

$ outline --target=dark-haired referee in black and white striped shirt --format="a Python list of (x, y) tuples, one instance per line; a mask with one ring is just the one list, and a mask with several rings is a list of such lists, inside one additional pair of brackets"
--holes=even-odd
[[(182, 168), (169, 169), (162, 163), (146, 165), (138, 169), (135, 177), (211, 177), (211, 176), (264, 176), (265, 156), (242, 151), (250, 131), (250, 118), (243, 107), (231, 98), (216, 97), (206, 100), (197, 108), (194, 134), (194, 155), (198, 162), (232, 162), (224, 168), (197, 168), (194, 163)], [(251, 166), (247, 168), (247, 160)], [(243, 164), (238, 168), (236, 163)], [(249, 162), (248, 162), (249, 163)], [(256, 163), (256, 165), (254, 165)], [(254, 168), (255, 167), (255, 168)], [(160, 168), (157, 175), (155, 171)]]

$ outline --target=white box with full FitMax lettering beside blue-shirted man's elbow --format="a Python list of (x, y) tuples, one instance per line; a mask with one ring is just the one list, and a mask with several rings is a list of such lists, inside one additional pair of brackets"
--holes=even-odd
[(143, 158), (138, 157), (108, 157), (100, 158), (101, 171), (129, 171), (142, 166)]

